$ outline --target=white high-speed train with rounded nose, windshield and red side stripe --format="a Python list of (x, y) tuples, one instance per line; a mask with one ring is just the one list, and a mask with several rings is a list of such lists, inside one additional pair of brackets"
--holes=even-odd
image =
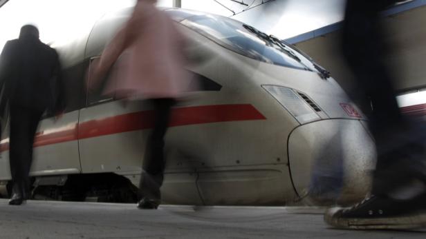
[[(322, 176), (341, 172), (341, 200), (364, 196), (376, 157), (373, 140), (362, 112), (326, 70), (239, 21), (163, 10), (187, 37), (187, 70), (201, 85), (174, 108), (164, 203), (309, 203), (312, 185), (321, 191)], [(30, 172), (35, 198), (136, 200), (151, 107), (84, 87), (91, 59), (130, 13), (107, 14), (72, 43), (54, 44), (64, 67), (67, 107), (58, 121), (46, 115), (39, 125)], [(6, 196), (8, 130), (0, 151), (0, 192)]]

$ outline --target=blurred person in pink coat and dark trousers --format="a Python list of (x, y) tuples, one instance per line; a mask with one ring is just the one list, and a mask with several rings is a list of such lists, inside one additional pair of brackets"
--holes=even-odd
[(155, 3), (156, 0), (137, 1), (130, 19), (90, 69), (89, 87), (93, 88), (100, 85), (102, 76), (115, 63), (117, 72), (105, 83), (104, 94), (147, 100), (154, 105), (154, 129), (142, 165), (145, 172), (140, 180), (140, 209), (156, 209), (160, 204), (165, 169), (163, 138), (172, 106), (189, 85), (183, 36)]

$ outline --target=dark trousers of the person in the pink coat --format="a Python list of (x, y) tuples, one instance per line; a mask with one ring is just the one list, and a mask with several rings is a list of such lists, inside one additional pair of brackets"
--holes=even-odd
[(145, 172), (140, 178), (140, 191), (142, 196), (159, 200), (165, 170), (164, 136), (175, 101), (172, 98), (155, 98), (149, 101), (154, 106), (154, 129), (147, 141), (142, 165)]

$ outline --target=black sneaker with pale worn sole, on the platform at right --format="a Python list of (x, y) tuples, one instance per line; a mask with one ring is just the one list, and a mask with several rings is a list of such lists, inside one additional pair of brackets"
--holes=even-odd
[(371, 196), (349, 208), (333, 207), (324, 214), (340, 229), (416, 229), (426, 227), (426, 194), (409, 200)]

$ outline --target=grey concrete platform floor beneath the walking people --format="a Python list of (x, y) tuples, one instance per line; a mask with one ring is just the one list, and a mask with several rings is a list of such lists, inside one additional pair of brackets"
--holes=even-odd
[(426, 231), (330, 229), (320, 208), (161, 206), (0, 199), (0, 238), (426, 238)]

